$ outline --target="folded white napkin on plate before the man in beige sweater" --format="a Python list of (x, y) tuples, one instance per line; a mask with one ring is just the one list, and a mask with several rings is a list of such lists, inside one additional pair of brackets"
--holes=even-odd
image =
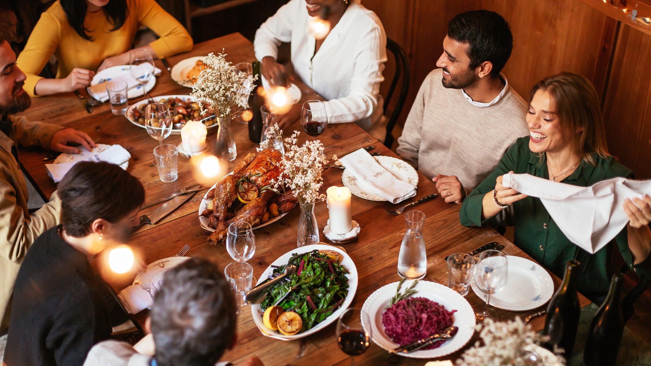
[(416, 186), (384, 169), (366, 150), (357, 151), (340, 158), (346, 170), (357, 180), (357, 186), (368, 193), (376, 193), (391, 203), (404, 201), (416, 195)]

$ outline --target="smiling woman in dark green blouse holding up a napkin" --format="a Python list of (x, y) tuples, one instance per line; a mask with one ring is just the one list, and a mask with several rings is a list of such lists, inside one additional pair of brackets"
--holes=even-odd
[[(516, 246), (559, 277), (568, 260), (579, 260), (579, 291), (597, 298), (609, 286), (608, 246), (592, 255), (576, 246), (550, 218), (540, 199), (502, 186), (502, 176), (528, 173), (591, 186), (615, 176), (633, 178), (633, 172), (608, 154), (599, 98), (588, 79), (570, 72), (546, 77), (533, 87), (530, 100), (530, 135), (519, 138), (495, 171), (466, 197), (461, 223), (514, 225)], [(626, 263), (641, 274), (641, 263), (651, 251), (651, 198), (634, 201), (624, 203), (630, 221), (615, 240)]]

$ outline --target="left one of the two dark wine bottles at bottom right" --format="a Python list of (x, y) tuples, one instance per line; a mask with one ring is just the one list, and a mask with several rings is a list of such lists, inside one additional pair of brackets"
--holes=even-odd
[(549, 341), (544, 345), (553, 351), (554, 346), (565, 350), (565, 358), (572, 357), (576, 330), (579, 327), (581, 304), (579, 294), (576, 292), (576, 277), (579, 265), (577, 260), (570, 260), (565, 266), (565, 275), (561, 287), (549, 300), (547, 305), (547, 318), (545, 319), (544, 335), (549, 336)]

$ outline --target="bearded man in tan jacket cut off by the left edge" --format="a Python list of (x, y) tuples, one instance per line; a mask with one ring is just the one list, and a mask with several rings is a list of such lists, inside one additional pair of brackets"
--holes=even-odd
[(0, 34), (0, 334), (8, 326), (14, 282), (27, 249), (42, 232), (61, 222), (57, 192), (29, 214), (27, 185), (18, 165), (18, 143), (72, 154), (79, 150), (66, 146), (68, 143), (89, 150), (95, 147), (84, 132), (15, 117), (31, 104), (23, 84), (25, 74), (16, 66), (16, 54)]

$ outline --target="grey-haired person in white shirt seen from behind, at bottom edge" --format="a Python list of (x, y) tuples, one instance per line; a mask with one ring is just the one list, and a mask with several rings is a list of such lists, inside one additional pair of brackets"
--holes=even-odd
[[(226, 366), (222, 354), (236, 342), (235, 297), (223, 271), (191, 258), (165, 272), (154, 296), (149, 332), (135, 346), (115, 340), (90, 348), (84, 366)], [(237, 366), (264, 366), (252, 357)]]

